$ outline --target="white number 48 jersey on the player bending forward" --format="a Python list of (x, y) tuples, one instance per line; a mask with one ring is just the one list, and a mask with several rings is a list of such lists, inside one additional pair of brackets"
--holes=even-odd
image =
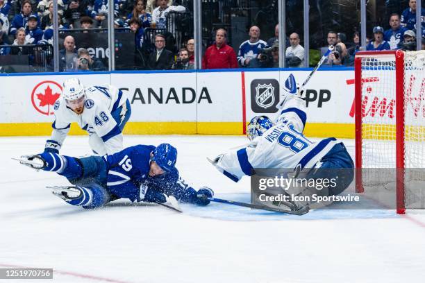
[[(112, 85), (86, 87), (85, 95), (84, 110), (81, 114), (72, 111), (63, 96), (58, 98), (53, 106), (55, 121), (52, 124), (51, 140), (62, 146), (71, 123), (76, 122), (83, 130), (89, 132), (90, 137), (97, 135), (101, 138), (106, 153), (121, 151), (122, 132), (111, 112), (124, 105), (127, 98)], [(92, 149), (98, 152), (93, 146)]]

